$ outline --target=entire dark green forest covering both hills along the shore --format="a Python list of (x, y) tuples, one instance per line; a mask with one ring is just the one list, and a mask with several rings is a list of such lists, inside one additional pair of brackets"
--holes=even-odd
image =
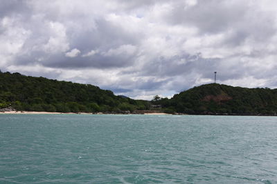
[(116, 96), (89, 84), (0, 72), (0, 109), (47, 112), (135, 112), (181, 114), (277, 114), (277, 90), (211, 83), (152, 101)]

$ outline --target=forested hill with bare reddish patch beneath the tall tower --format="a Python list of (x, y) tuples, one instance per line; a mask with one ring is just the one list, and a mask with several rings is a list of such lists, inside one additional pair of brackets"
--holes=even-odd
[(167, 112), (186, 114), (276, 115), (277, 90), (211, 83), (153, 103), (162, 105)]

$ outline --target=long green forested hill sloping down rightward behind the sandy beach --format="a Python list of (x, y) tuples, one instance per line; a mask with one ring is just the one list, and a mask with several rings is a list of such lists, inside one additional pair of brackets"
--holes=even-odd
[(115, 112), (147, 110), (148, 101), (116, 96), (94, 85), (0, 72), (0, 109), (48, 112)]

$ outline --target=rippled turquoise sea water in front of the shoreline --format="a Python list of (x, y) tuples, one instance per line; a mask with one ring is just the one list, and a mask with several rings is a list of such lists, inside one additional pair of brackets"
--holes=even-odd
[(0, 183), (277, 183), (277, 117), (0, 114)]

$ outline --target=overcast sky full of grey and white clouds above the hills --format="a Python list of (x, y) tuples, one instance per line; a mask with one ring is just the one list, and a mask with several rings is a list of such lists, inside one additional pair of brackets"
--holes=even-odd
[(277, 88), (276, 0), (0, 0), (0, 70), (133, 99)]

